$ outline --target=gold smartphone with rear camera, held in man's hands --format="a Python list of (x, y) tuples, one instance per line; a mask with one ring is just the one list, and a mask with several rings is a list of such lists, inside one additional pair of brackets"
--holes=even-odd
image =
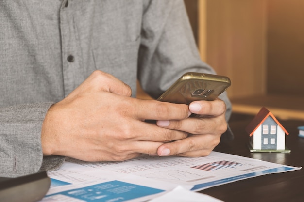
[(178, 104), (190, 104), (195, 100), (214, 100), (229, 88), (228, 77), (188, 72), (173, 83), (157, 100)]

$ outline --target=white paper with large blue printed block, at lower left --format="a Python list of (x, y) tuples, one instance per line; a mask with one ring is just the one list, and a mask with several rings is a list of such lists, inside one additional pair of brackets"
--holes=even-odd
[[(152, 199), (176, 187), (140, 176), (87, 168), (65, 162), (48, 172), (51, 188), (42, 202), (138, 202)], [(191, 189), (192, 186), (184, 186)]]

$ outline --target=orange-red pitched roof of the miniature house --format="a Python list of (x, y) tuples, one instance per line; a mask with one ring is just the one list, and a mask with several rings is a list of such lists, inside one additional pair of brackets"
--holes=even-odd
[(265, 107), (262, 107), (262, 109), (255, 115), (253, 120), (247, 125), (245, 128), (246, 132), (252, 136), (254, 131), (259, 127), (260, 124), (262, 124), (267, 117), (271, 116), (272, 119), (284, 130), (284, 132), (288, 135), (289, 133), (287, 130), (280, 124), (280, 122), (274, 117), (274, 115)]

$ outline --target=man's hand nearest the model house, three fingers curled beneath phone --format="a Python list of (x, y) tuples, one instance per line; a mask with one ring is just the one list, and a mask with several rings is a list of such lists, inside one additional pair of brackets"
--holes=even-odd
[(186, 139), (161, 145), (157, 150), (158, 155), (206, 156), (219, 144), (221, 134), (227, 130), (225, 103), (220, 99), (194, 101), (190, 103), (189, 110), (198, 114), (199, 117), (157, 121), (157, 125), (160, 127), (185, 131), (190, 134)]

